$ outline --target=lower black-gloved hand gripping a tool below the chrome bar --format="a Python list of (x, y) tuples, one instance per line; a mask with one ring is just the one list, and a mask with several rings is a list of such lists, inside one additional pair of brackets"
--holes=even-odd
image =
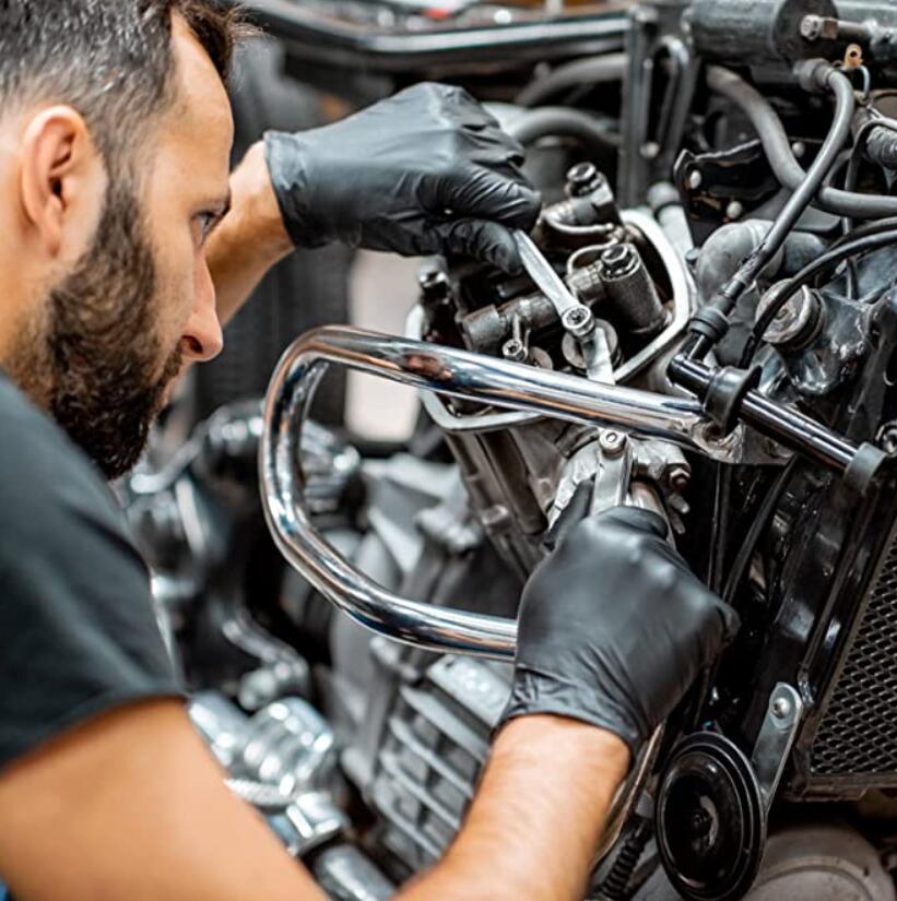
[(562, 536), (523, 591), (504, 720), (570, 716), (637, 752), (739, 626), (665, 535), (657, 514), (617, 507)]

